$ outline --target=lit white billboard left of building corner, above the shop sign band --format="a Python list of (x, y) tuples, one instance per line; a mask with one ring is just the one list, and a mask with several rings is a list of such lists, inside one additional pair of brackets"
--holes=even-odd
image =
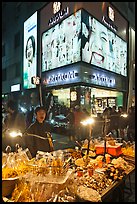
[(81, 11), (71, 15), (42, 35), (42, 71), (81, 60)]

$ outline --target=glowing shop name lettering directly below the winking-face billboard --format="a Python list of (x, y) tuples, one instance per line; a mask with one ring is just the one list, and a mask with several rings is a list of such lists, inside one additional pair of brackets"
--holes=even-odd
[(115, 78), (107, 77), (104, 74), (93, 73), (91, 75), (91, 82), (101, 86), (114, 87), (116, 84)]

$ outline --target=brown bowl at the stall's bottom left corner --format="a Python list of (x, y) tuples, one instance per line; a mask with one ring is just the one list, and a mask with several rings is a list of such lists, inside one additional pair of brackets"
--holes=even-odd
[(18, 182), (19, 177), (2, 179), (2, 196), (11, 195), (15, 188), (15, 184)]

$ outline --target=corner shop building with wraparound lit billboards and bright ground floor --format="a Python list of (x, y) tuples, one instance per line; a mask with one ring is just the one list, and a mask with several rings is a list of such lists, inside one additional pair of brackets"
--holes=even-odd
[(94, 114), (126, 107), (127, 21), (108, 2), (57, 3), (40, 12), (43, 96)]

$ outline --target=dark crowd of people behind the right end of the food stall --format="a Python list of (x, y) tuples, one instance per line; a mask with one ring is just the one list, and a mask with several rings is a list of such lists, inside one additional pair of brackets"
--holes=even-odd
[(131, 106), (126, 112), (122, 106), (107, 107), (103, 112), (103, 118), (108, 119), (107, 133), (112, 133), (116, 138), (135, 140), (135, 107)]

